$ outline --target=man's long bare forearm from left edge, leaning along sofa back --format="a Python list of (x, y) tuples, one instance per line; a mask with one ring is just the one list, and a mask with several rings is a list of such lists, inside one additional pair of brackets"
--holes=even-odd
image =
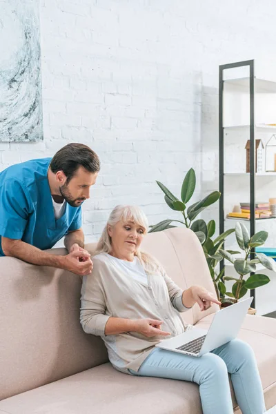
[(22, 242), (22, 240), (8, 239), (7, 237), (1, 238), (1, 246), (6, 256), (17, 257), (31, 264), (66, 269), (81, 276), (91, 273), (92, 270), (89, 253), (83, 252), (83, 255), (87, 256), (87, 260), (86, 262), (79, 262), (79, 252), (76, 251), (66, 256), (51, 255), (37, 247)]

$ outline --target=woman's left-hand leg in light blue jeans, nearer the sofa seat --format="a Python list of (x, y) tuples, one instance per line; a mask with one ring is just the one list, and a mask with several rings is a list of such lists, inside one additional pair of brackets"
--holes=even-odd
[(204, 414), (233, 414), (226, 364), (213, 353), (197, 358), (155, 348), (141, 364), (138, 373), (130, 372), (146, 377), (196, 382)]

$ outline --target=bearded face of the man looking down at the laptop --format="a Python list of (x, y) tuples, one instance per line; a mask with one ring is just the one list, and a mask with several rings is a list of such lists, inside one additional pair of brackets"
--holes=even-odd
[(84, 200), (90, 198), (90, 187), (94, 186), (98, 172), (88, 172), (79, 167), (68, 184), (59, 187), (61, 195), (72, 207), (79, 207)]

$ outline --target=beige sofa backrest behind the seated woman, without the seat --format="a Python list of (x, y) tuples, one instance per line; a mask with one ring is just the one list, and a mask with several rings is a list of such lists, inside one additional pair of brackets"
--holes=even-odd
[[(201, 284), (215, 293), (201, 245), (191, 230), (145, 237), (143, 249), (182, 288)], [(95, 244), (86, 248), (93, 253)], [(65, 255), (63, 248), (51, 253)], [(108, 361), (101, 338), (79, 323), (81, 277), (65, 270), (0, 258), (0, 400)], [(215, 311), (184, 313), (195, 323)]]

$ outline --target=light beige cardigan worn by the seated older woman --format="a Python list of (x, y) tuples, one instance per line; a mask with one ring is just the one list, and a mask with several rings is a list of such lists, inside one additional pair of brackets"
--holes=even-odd
[(83, 277), (81, 288), (81, 325), (86, 333), (99, 335), (108, 348), (108, 357), (119, 371), (139, 370), (155, 344), (164, 337), (145, 337), (136, 332), (105, 335), (109, 317), (152, 318), (164, 321), (162, 330), (171, 336), (183, 333), (188, 325), (179, 312), (181, 290), (166, 273), (148, 274), (148, 284), (138, 282), (117, 266), (112, 256), (101, 253), (93, 258), (92, 274)]

